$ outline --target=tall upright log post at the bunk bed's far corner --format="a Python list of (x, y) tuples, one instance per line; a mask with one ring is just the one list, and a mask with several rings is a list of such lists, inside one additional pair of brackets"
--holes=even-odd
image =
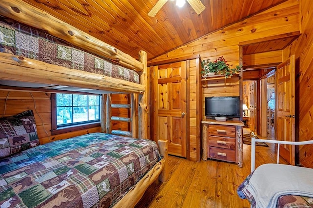
[(138, 105), (138, 137), (139, 139), (149, 139), (148, 136), (148, 100), (149, 100), (149, 84), (148, 84), (148, 71), (147, 71), (147, 53), (143, 50), (139, 51), (139, 61), (143, 63), (143, 71), (140, 73), (139, 84), (145, 86), (145, 92), (139, 95)]

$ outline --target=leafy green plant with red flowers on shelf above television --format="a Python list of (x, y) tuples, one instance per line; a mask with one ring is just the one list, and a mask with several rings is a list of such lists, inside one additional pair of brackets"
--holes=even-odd
[(203, 60), (201, 62), (202, 71), (201, 74), (203, 77), (208, 77), (214, 74), (223, 74), (226, 78), (232, 76), (234, 73), (238, 73), (241, 70), (240, 66), (236, 68), (230, 68), (229, 64), (223, 56), (220, 56), (215, 61)]

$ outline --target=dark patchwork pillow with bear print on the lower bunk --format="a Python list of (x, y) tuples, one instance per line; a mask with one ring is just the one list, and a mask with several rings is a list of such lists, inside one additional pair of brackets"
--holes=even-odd
[(0, 119), (0, 158), (38, 144), (39, 139), (32, 110)]

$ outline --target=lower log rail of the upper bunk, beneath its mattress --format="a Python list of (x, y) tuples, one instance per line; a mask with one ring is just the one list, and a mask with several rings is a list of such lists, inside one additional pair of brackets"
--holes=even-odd
[(0, 52), (0, 74), (3, 80), (64, 85), (114, 92), (143, 93), (144, 85), (48, 64)]

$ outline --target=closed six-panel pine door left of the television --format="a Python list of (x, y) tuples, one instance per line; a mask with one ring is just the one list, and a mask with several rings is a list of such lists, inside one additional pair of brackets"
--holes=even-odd
[(186, 61), (154, 68), (154, 136), (168, 153), (186, 157)]

